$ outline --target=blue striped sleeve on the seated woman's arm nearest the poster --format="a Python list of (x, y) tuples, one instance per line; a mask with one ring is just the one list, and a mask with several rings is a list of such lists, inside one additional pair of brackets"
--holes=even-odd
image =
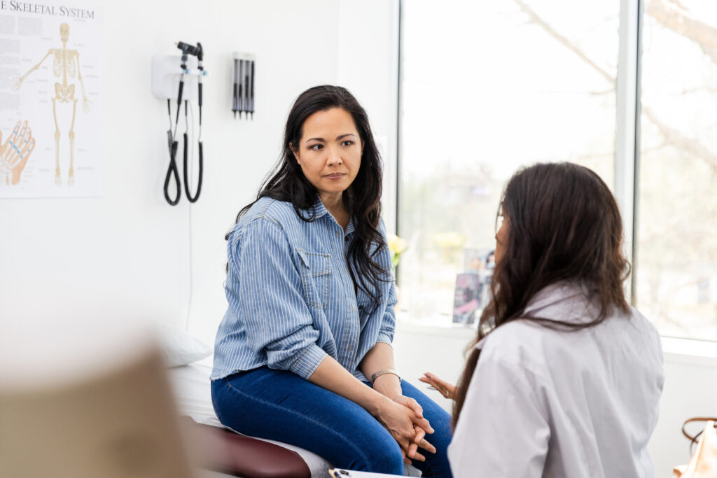
[(229, 248), (226, 290), (250, 348), (266, 355), (269, 368), (309, 378), (327, 354), (316, 345), (319, 333), (281, 226), (265, 217), (247, 224)]

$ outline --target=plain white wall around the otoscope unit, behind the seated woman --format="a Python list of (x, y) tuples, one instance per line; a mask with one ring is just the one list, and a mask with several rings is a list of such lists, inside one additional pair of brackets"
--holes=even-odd
[[(104, 194), (0, 201), (0, 317), (150, 317), (189, 322), (191, 331), (212, 343), (225, 307), (224, 234), (276, 161), (295, 97), (307, 87), (346, 80), (379, 125), (378, 134), (391, 135), (386, 85), (394, 87), (395, 80), (388, 77), (384, 57), (393, 47), (396, 2), (97, 5), (103, 22), (98, 161), (103, 161)], [(365, 28), (373, 36), (361, 40), (364, 48), (352, 35)], [(168, 120), (165, 103), (150, 91), (152, 55), (179, 53), (174, 42), (180, 40), (201, 41), (210, 70), (204, 90), (204, 185), (191, 208), (184, 198), (174, 207), (163, 199)], [(340, 44), (352, 49), (350, 57), (340, 54)], [(253, 122), (234, 120), (230, 110), (234, 50), (257, 55)], [(376, 52), (382, 53), (378, 59)], [(375, 75), (354, 75), (374, 60)]]

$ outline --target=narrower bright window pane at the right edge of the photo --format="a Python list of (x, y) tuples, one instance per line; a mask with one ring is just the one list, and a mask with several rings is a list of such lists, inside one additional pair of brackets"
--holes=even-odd
[(717, 340), (717, 5), (652, 0), (642, 32), (637, 307)]

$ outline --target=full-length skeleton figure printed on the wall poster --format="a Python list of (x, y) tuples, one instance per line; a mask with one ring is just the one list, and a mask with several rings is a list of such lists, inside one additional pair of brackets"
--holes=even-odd
[(62, 84), (54, 84), (54, 97), (52, 97), (52, 117), (54, 118), (54, 183), (57, 186), (62, 185), (60, 178), (60, 125), (57, 123), (57, 102), (69, 103), (72, 102), (72, 122), (70, 123), (70, 132), (68, 136), (70, 138), (70, 170), (67, 172), (67, 186), (75, 184), (75, 112), (77, 110), (77, 99), (75, 98), (75, 84), (67, 82), (67, 78), (75, 78), (80, 81), (80, 87), (82, 88), (82, 110), (87, 112), (90, 107), (90, 100), (87, 100), (85, 95), (85, 84), (82, 82), (82, 74), (80, 73), (80, 54), (77, 50), (67, 49), (67, 37), (70, 36), (70, 25), (63, 23), (60, 25), (60, 39), (62, 40), (62, 48), (51, 48), (47, 54), (32, 67), (23, 77), (13, 85), (14, 91), (19, 91), (22, 86), (22, 82), (27, 78), (30, 73), (37, 70), (42, 62), (44, 62), (49, 55), (54, 55), (52, 62), (52, 73), (54, 77), (62, 77)]

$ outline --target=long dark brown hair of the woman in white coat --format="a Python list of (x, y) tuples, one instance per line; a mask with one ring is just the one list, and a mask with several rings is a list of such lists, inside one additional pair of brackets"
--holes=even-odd
[[(596, 173), (573, 163), (523, 168), (505, 186), (500, 208), (508, 221), (508, 236), (503, 257), (495, 264), (478, 337), (467, 349), (470, 354), (456, 389), (454, 426), (478, 364), (480, 350), (475, 344), (495, 328), (521, 319), (581, 330), (599, 324), (611, 312), (629, 310), (622, 290), (630, 274), (622, 254), (622, 219), (612, 193)], [(592, 321), (526, 316), (533, 296), (564, 280), (587, 287), (599, 310)]]

